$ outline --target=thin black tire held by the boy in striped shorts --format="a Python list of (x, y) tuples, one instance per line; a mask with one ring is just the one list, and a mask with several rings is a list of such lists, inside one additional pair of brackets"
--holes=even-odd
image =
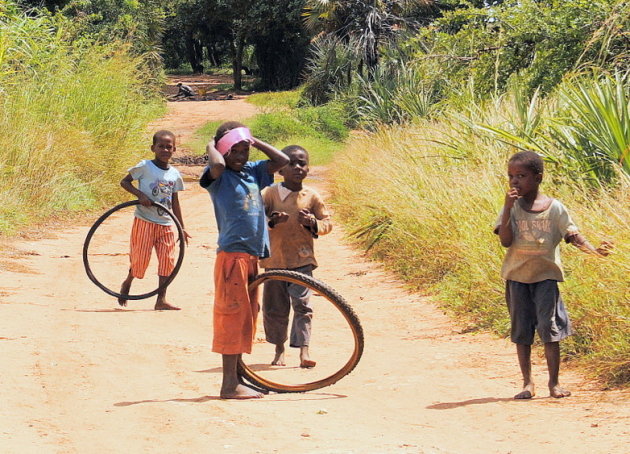
[(115, 292), (115, 291), (107, 288), (105, 285), (103, 285), (96, 278), (96, 276), (94, 276), (94, 273), (92, 272), (92, 269), (90, 268), (90, 262), (89, 262), (89, 259), (88, 259), (88, 249), (90, 247), (90, 241), (92, 240), (92, 236), (94, 236), (94, 232), (96, 232), (96, 229), (98, 229), (99, 226), (108, 217), (110, 217), (113, 213), (115, 213), (116, 211), (122, 210), (123, 208), (127, 208), (129, 206), (139, 205), (139, 204), (140, 204), (140, 201), (138, 201), (138, 200), (130, 200), (129, 202), (123, 202), (121, 204), (118, 204), (115, 207), (113, 207), (110, 210), (108, 210), (105, 213), (103, 213), (94, 222), (94, 224), (92, 224), (92, 227), (88, 231), (88, 233), (87, 233), (87, 235), (85, 237), (85, 241), (83, 242), (83, 266), (85, 268), (85, 272), (88, 275), (88, 278), (94, 284), (96, 284), (96, 286), (98, 288), (103, 290), (108, 295), (113, 296), (114, 298), (123, 298), (123, 299), (126, 299), (126, 300), (141, 300), (141, 299), (145, 299), (145, 298), (150, 298), (153, 295), (157, 295), (162, 289), (168, 287), (170, 285), (170, 283), (173, 282), (173, 279), (175, 279), (175, 276), (177, 276), (177, 273), (179, 272), (179, 269), (181, 268), (182, 262), (184, 260), (184, 252), (185, 252), (185, 248), (186, 248), (186, 241), (185, 241), (185, 238), (184, 238), (184, 229), (183, 229), (181, 223), (179, 222), (179, 219), (177, 219), (177, 216), (175, 216), (171, 212), (171, 210), (166, 208), (164, 205), (152, 201), (151, 204), (154, 207), (157, 207), (157, 208), (160, 208), (160, 209), (164, 210), (164, 212), (167, 213), (171, 217), (171, 219), (173, 219), (173, 222), (175, 223), (175, 226), (177, 227), (177, 234), (178, 234), (178, 237), (179, 237), (179, 256), (177, 257), (177, 262), (175, 263), (175, 268), (173, 268), (173, 271), (171, 272), (171, 274), (169, 274), (169, 276), (166, 279), (166, 281), (164, 281), (164, 283), (162, 285), (158, 286), (158, 288), (156, 288), (155, 290), (153, 290), (151, 292), (142, 293), (142, 294), (138, 294), (138, 295), (125, 295), (125, 294), (118, 293), (118, 292)]

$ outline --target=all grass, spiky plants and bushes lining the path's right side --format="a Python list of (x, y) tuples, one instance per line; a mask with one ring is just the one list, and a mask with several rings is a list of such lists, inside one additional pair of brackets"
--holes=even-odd
[(470, 4), (386, 40), (371, 68), (365, 28), (333, 27), (302, 88), (302, 102), (351, 106), (363, 131), (331, 166), (350, 239), (469, 330), (509, 330), (492, 230), (509, 156), (543, 155), (543, 191), (616, 247), (562, 247), (576, 330), (564, 357), (611, 385), (630, 383), (629, 18), (627, 1)]

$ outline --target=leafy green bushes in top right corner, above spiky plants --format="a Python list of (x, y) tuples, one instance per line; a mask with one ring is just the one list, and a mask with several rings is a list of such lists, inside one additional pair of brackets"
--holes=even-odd
[(479, 93), (517, 75), (529, 93), (547, 93), (569, 72), (627, 69), (629, 29), (627, 0), (525, 0), (448, 12), (405, 46), (436, 77), (472, 78)]

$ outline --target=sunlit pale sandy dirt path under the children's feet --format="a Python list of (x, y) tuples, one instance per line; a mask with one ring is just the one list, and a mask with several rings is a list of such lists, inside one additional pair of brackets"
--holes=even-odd
[[(233, 114), (250, 109), (226, 102)], [(182, 136), (225, 107), (174, 104), (159, 126)], [(317, 169), (310, 183), (325, 190), (324, 176)], [(598, 391), (563, 371), (573, 397), (544, 397), (541, 386), (543, 397), (513, 401), (519, 379), (509, 342), (459, 334), (422, 296), (347, 247), (339, 226), (318, 240), (316, 275), (362, 321), (357, 369), (307, 394), (218, 399), (220, 357), (210, 351), (216, 227), (196, 184), (182, 205), (193, 239), (169, 289), (180, 312), (152, 311), (152, 299), (119, 310), (89, 282), (81, 262), (89, 225), (54, 226), (2, 251), (0, 452), (628, 452), (627, 391)], [(122, 223), (120, 234), (128, 234)], [(535, 373), (543, 385), (540, 357)]]

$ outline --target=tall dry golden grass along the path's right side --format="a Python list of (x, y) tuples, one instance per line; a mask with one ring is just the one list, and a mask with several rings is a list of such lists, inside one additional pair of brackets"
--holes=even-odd
[[(350, 225), (351, 237), (472, 327), (501, 335), (509, 330), (499, 275), (504, 250), (492, 230), (507, 188), (506, 162), (517, 148), (474, 124), (526, 119), (514, 113), (514, 103), (513, 97), (495, 99), (470, 109), (468, 121), (451, 112), (356, 136), (332, 166), (336, 214)], [(567, 175), (564, 150), (546, 152), (558, 159), (547, 167), (543, 192), (568, 206), (593, 243), (616, 244), (606, 259), (562, 246), (562, 292), (577, 332), (563, 342), (564, 354), (609, 383), (628, 383), (630, 178), (620, 167), (614, 189), (554, 178)]]

